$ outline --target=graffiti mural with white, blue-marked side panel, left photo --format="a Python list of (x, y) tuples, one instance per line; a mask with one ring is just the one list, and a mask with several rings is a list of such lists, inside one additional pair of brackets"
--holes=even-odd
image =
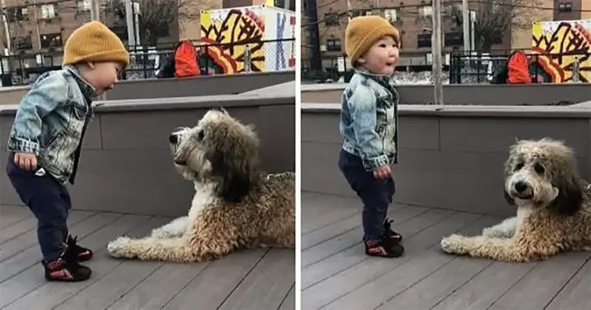
[[(209, 74), (295, 70), (295, 13), (266, 5), (202, 11), (202, 61)], [(245, 63), (245, 54), (250, 62)]]

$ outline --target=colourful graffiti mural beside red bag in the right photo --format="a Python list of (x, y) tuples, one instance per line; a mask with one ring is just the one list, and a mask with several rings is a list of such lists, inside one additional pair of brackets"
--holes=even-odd
[[(532, 50), (537, 56), (540, 81), (567, 83), (578, 60), (579, 80), (591, 81), (591, 21), (536, 22), (532, 26)], [(532, 56), (534, 61), (536, 56)]]

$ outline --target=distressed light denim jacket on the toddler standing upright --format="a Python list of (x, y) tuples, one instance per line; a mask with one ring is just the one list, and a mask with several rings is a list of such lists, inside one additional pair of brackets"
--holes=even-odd
[(355, 68), (341, 97), (343, 149), (372, 171), (398, 162), (398, 102), (391, 76)]

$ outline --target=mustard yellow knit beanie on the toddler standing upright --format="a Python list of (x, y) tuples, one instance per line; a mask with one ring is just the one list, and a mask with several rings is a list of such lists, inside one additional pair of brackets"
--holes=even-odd
[(384, 17), (367, 15), (351, 19), (345, 31), (345, 52), (351, 65), (384, 35), (394, 38), (400, 47), (400, 33)]

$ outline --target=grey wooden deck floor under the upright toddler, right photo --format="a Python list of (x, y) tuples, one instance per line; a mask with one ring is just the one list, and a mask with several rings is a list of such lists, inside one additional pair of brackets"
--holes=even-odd
[(451, 256), (443, 236), (478, 234), (501, 218), (393, 205), (405, 254), (371, 258), (359, 211), (357, 199), (302, 194), (302, 309), (589, 309), (591, 252), (532, 263)]

